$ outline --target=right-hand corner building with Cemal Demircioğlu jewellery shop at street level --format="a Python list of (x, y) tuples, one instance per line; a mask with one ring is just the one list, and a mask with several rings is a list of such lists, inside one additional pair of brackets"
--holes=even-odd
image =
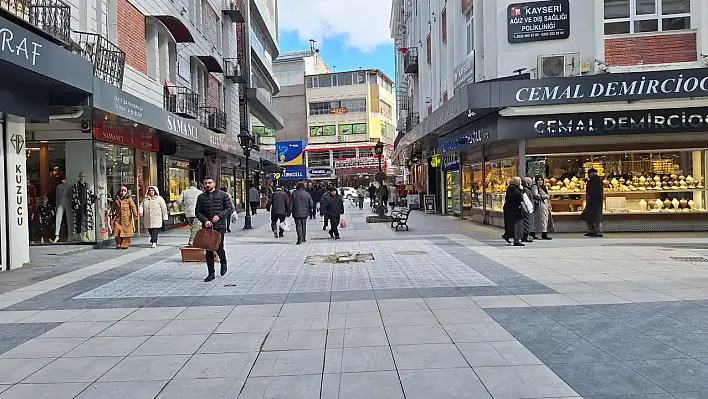
[(706, 2), (394, 0), (391, 33), (393, 156), (442, 212), (502, 224), (509, 179), (539, 174), (578, 231), (595, 167), (607, 229), (708, 227)]

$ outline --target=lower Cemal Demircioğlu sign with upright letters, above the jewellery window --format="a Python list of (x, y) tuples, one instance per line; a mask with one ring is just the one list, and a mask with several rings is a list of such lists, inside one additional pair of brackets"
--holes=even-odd
[[(500, 118), (500, 139), (708, 131), (708, 108)], [(511, 137), (513, 136), (513, 137)]]

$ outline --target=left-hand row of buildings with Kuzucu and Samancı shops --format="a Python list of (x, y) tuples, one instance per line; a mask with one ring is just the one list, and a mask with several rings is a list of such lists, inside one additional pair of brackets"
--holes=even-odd
[[(3, 152), (2, 180), (18, 196), (0, 200), (0, 236), (12, 237), (0, 244), (3, 268), (26, 262), (29, 242), (107, 242), (121, 186), (136, 202), (158, 187), (168, 226), (184, 222), (175, 200), (191, 180), (214, 177), (240, 203), (243, 184), (264, 177), (275, 156), (256, 148), (255, 172), (245, 176), (238, 134), (252, 118), (282, 128), (272, 106), (276, 7), (275, 0), (0, 2), (0, 119), (4, 148), (13, 149)], [(57, 211), (51, 228), (36, 228), (40, 204)]]

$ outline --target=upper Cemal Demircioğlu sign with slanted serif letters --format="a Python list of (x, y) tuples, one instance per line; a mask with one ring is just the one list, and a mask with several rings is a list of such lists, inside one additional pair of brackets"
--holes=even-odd
[(708, 96), (708, 69), (507, 81), (500, 106), (659, 100)]

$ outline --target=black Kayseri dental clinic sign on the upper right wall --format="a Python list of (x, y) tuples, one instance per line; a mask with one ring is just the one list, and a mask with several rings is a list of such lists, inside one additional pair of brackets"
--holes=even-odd
[(570, 37), (570, 1), (510, 4), (507, 22), (509, 43), (567, 39)]

